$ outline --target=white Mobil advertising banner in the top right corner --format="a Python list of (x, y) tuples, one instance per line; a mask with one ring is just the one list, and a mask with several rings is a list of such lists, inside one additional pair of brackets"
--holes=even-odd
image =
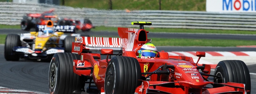
[(256, 13), (256, 0), (206, 0), (206, 11)]

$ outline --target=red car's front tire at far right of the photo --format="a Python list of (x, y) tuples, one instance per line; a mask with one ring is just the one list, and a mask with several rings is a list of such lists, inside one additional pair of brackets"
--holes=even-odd
[[(251, 91), (251, 78), (248, 67), (240, 60), (224, 60), (220, 61), (214, 71), (214, 75), (221, 76), (222, 82), (235, 82), (245, 84), (245, 90)], [(217, 80), (214, 80), (217, 83)], [(247, 94), (250, 94), (248, 92)]]

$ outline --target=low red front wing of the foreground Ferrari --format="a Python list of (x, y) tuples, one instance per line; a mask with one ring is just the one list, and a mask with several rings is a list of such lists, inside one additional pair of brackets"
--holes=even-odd
[[(207, 84), (223, 85), (223, 87), (207, 88), (205, 87)], [(135, 94), (247, 94), (246, 92), (245, 84), (231, 82), (213, 83), (208, 81), (202, 82), (200, 85), (190, 83), (190, 81), (142, 81), (142, 84), (135, 90)]]

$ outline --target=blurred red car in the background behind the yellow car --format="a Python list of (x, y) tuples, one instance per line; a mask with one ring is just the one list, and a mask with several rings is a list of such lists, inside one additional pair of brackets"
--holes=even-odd
[[(94, 28), (91, 21), (89, 19), (79, 20), (79, 19), (68, 19), (68, 18), (61, 18), (57, 17), (57, 15), (54, 15), (54, 10), (46, 11), (42, 14), (35, 13), (35, 14), (26, 14), (23, 16), (23, 19), (21, 20), (20, 27), (22, 30), (29, 31), (32, 28), (37, 28), (38, 25), (45, 25), (46, 22), (49, 20), (54, 22), (54, 26), (75, 26), (76, 30), (82, 30), (82, 31), (90, 31), (91, 28)], [(49, 17), (51, 16), (51, 17)]]

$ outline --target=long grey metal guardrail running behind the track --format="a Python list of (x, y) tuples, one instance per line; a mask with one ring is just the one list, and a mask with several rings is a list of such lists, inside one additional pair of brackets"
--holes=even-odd
[[(48, 4), (0, 2), (0, 24), (18, 25), (26, 13), (43, 13), (55, 9), (59, 17), (89, 18), (94, 26), (128, 27), (131, 21), (151, 21), (159, 28), (192, 28), (219, 30), (256, 30), (256, 13), (218, 13), (169, 10), (97, 10)], [(134, 27), (134, 26), (131, 26)]]

